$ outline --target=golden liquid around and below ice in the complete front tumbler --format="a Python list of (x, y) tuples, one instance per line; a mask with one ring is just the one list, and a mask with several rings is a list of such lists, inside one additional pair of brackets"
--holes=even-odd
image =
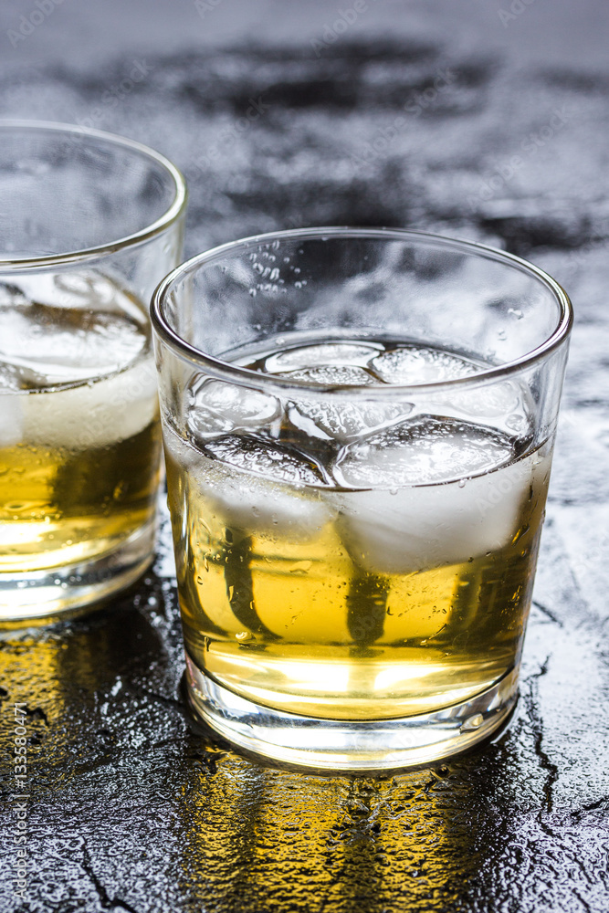
[[(374, 555), (348, 548), (340, 510), (319, 529), (281, 530), (272, 518), (265, 528), (255, 504), (251, 528), (236, 526), (214, 490), (223, 474), (228, 485), (231, 475), (247, 485), (244, 474), (218, 468), (172, 432), (166, 462), (186, 649), (236, 694), (326, 719), (403, 717), (465, 700), (518, 663), (548, 482), (543, 451), (488, 474), (516, 500), (506, 544), (404, 572), (374, 570)], [(197, 482), (194, 467), (212, 486)], [(500, 486), (502, 472), (517, 473), (518, 491), (511, 480)], [(460, 489), (470, 503), (477, 483), (485, 479)], [(268, 487), (269, 503), (298, 498), (303, 514), (308, 501), (335, 498), (256, 484)], [(349, 496), (357, 504), (369, 494)], [(478, 513), (487, 504), (492, 512), (492, 499), (481, 499)]]

